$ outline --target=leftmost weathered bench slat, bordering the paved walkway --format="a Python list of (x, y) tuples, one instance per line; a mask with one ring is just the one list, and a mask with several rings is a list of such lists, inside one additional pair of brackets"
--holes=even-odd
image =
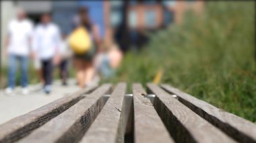
[(73, 95), (53, 101), (35, 109), (34, 111), (15, 117), (13, 120), (2, 124), (0, 126), (0, 142), (14, 142), (15, 140), (19, 140), (32, 132), (32, 130), (42, 126), (53, 117), (59, 115), (59, 113), (62, 113), (77, 103), (77, 101), (82, 99), (80, 95), (89, 93), (95, 88), (96, 86), (82, 89)]

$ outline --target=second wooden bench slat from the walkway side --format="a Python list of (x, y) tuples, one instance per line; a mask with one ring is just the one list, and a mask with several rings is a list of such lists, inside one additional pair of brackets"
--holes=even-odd
[(53, 118), (18, 142), (77, 142), (89, 128), (104, 105), (102, 95), (110, 91), (102, 85), (84, 99)]

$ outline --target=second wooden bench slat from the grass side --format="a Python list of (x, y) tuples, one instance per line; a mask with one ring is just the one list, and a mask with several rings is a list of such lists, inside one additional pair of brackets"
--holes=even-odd
[(156, 94), (154, 107), (176, 142), (235, 142), (157, 85), (148, 89)]

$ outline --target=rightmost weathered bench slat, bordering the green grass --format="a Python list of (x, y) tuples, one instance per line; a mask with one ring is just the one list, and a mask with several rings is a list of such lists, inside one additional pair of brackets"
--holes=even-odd
[(171, 87), (170, 85), (162, 85), (162, 87), (174, 95), (179, 97), (179, 101), (187, 105), (208, 122), (211, 122), (232, 138), (239, 142), (256, 142), (256, 125), (242, 117), (238, 117), (232, 113), (228, 113), (219, 109), (210, 103), (202, 101)]

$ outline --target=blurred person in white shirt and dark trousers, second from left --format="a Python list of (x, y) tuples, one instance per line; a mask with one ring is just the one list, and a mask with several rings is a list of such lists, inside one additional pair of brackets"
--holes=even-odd
[(51, 22), (49, 13), (44, 13), (34, 32), (33, 55), (40, 59), (44, 92), (47, 94), (51, 93), (53, 64), (59, 64), (60, 42), (61, 33), (58, 26)]

